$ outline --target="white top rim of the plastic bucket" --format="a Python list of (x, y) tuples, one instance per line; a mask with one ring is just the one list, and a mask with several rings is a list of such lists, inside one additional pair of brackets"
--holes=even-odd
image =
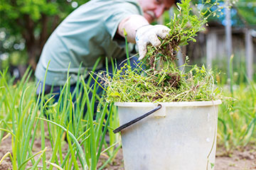
[(216, 101), (178, 101), (178, 102), (114, 102), (114, 106), (120, 107), (151, 107), (161, 104), (165, 107), (193, 107), (193, 106), (218, 106), (222, 102)]

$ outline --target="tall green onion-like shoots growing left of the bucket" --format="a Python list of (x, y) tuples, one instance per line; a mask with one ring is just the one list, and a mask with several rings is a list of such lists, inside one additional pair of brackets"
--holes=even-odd
[[(82, 86), (77, 86), (71, 94), (68, 77), (55, 103), (49, 95), (36, 96), (37, 84), (29, 81), (29, 70), (16, 85), (7, 70), (0, 74), (0, 142), (9, 135), (12, 139), (12, 152), (6, 153), (0, 162), (10, 157), (13, 169), (97, 169), (102, 152), (110, 158), (107, 162), (112, 161), (120, 147), (117, 146), (119, 134), (112, 134), (118, 125), (117, 111), (113, 104), (102, 102), (94, 115), (95, 100), (100, 98), (96, 94), (97, 86), (90, 87), (90, 82), (85, 84), (78, 76), (78, 84)], [(78, 88), (82, 88), (85, 95), (82, 96)], [(90, 91), (92, 98), (88, 97)], [(75, 102), (72, 101), (74, 95)], [(39, 99), (46, 102), (39, 103)], [(85, 104), (87, 113), (83, 115)], [(109, 143), (105, 141), (107, 132)], [(63, 150), (65, 136), (67, 151)], [(41, 139), (41, 151), (37, 153), (33, 152), (36, 139)], [(50, 148), (46, 142), (50, 142)], [(50, 155), (50, 159), (46, 155)], [(28, 162), (33, 166), (29, 167)]]

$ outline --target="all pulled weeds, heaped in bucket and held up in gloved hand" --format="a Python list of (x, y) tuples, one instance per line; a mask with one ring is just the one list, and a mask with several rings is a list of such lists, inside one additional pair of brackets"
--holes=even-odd
[[(215, 88), (213, 72), (206, 67), (176, 67), (176, 54), (181, 45), (196, 41), (194, 37), (207, 23), (208, 16), (215, 11), (210, 8), (218, 3), (207, 1), (206, 11), (198, 15), (191, 13), (191, 0), (178, 4), (178, 14), (174, 14), (169, 35), (161, 40), (159, 47), (148, 46), (146, 57), (136, 69), (129, 64), (118, 70), (112, 77), (102, 76), (107, 84), (107, 101), (114, 102), (172, 102), (172, 101), (212, 101), (221, 97)], [(187, 57), (188, 58), (188, 57)], [(129, 62), (128, 62), (129, 63)], [(184, 70), (189, 69), (188, 72)]]

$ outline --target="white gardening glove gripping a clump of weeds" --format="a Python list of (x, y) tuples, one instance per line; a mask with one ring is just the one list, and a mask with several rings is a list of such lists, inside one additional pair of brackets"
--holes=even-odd
[(166, 35), (169, 34), (170, 29), (166, 26), (156, 25), (156, 26), (142, 26), (137, 30), (136, 33), (136, 43), (139, 48), (139, 60), (142, 60), (146, 56), (146, 45), (153, 45), (154, 47), (159, 47), (161, 45), (161, 39), (166, 38)]

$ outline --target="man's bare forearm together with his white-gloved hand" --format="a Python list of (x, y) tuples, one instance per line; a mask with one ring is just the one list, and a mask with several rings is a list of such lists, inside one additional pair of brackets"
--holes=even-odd
[(139, 48), (139, 60), (142, 60), (146, 55), (146, 45), (159, 47), (161, 41), (158, 37), (164, 39), (169, 34), (169, 28), (166, 26), (156, 25), (151, 26), (146, 18), (139, 15), (129, 16), (124, 18), (119, 23), (117, 33), (124, 37), (124, 30), (127, 32), (128, 42), (136, 42)]

